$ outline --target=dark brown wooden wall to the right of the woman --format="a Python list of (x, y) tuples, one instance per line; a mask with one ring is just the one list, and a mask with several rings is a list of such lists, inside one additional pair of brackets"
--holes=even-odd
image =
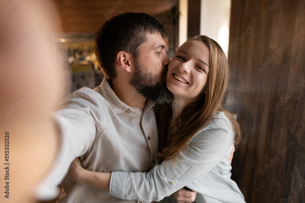
[(247, 202), (305, 202), (304, 23), (303, 0), (232, 0), (225, 106), (243, 133), (232, 179)]

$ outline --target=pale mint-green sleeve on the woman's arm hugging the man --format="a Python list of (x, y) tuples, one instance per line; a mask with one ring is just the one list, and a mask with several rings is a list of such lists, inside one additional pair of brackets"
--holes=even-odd
[(141, 173), (113, 172), (110, 194), (126, 200), (160, 201), (185, 185), (194, 182), (228, 157), (233, 133), (224, 126), (200, 131), (185, 154), (173, 161), (163, 161), (151, 171)]

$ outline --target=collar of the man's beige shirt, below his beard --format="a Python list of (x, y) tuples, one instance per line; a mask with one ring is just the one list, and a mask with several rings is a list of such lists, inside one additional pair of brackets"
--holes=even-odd
[[(117, 95), (113, 92), (113, 90), (111, 89), (109, 82), (106, 78), (103, 79), (100, 88), (101, 88), (101, 92), (102, 92), (104, 98), (109, 102), (109, 104), (111, 105), (111, 107), (117, 114), (123, 113), (123, 112), (127, 111), (127, 109), (130, 109), (132, 111), (139, 110), (138, 108), (130, 107), (127, 104), (125, 104), (124, 102), (122, 102), (117, 97)], [(149, 110), (151, 107), (153, 107), (154, 105), (155, 105), (155, 102), (147, 100), (146, 106), (144, 108), (145, 112), (147, 110)]]

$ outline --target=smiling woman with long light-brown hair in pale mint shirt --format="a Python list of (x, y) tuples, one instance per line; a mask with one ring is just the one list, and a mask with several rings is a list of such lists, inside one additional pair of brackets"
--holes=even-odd
[(196, 202), (245, 202), (230, 179), (228, 157), (240, 133), (238, 123), (221, 107), (228, 71), (217, 42), (206, 36), (188, 40), (168, 65), (166, 84), (173, 101), (158, 119), (157, 158), (163, 162), (148, 173), (92, 172), (74, 162), (70, 176), (80, 184), (99, 178), (95, 187), (127, 200), (160, 201), (186, 186), (198, 192)]

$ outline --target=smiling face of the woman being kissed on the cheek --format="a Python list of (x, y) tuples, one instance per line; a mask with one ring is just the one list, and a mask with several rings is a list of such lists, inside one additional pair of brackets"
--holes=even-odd
[(210, 64), (210, 49), (192, 40), (181, 46), (168, 66), (167, 88), (176, 96), (183, 96), (185, 106), (206, 94)]

